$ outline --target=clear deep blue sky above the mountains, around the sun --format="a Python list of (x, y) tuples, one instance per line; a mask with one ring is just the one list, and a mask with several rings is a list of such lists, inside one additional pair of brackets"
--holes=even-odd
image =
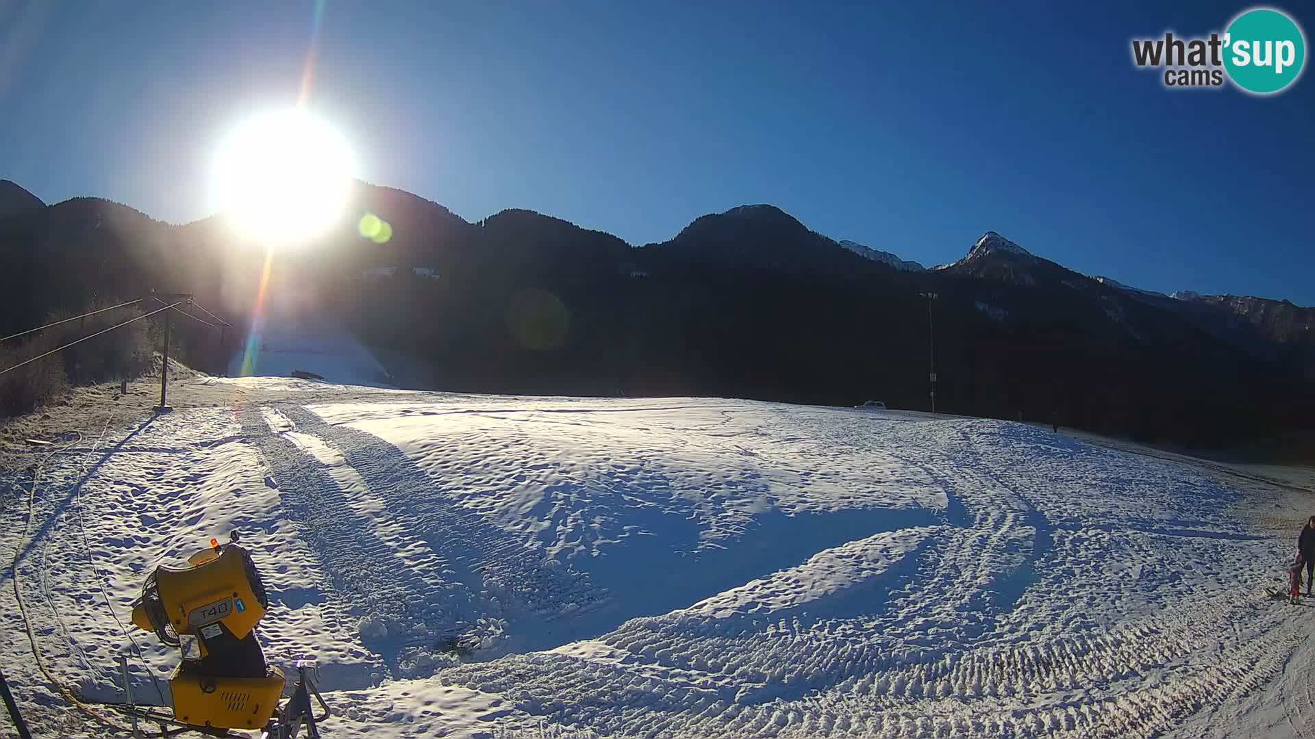
[[(993, 229), (1151, 289), (1315, 305), (1315, 78), (1168, 91), (1130, 58), (1248, 5), (813, 5), (330, 0), (309, 107), (363, 179), (468, 220), (530, 208), (646, 243), (771, 203), (927, 264)], [(206, 216), (212, 150), (295, 103), (314, 18), (0, 5), (0, 178)]]

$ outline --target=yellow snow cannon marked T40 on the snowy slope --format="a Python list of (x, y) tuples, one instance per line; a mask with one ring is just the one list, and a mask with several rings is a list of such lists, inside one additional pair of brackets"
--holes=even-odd
[[(260, 730), (279, 709), (283, 672), (264, 661), (255, 626), (270, 601), (251, 555), (237, 543), (210, 539), (188, 558), (189, 567), (156, 567), (133, 602), (133, 623), (196, 654), (170, 679), (171, 722), (205, 730)], [(317, 693), (318, 696), (318, 693)]]

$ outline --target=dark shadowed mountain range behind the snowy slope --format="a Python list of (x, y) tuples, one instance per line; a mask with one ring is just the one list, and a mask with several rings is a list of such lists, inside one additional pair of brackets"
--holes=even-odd
[[(387, 243), (355, 233), (366, 212), (391, 224)], [(1224, 304), (1139, 300), (1051, 263), (1031, 285), (897, 272), (771, 206), (705, 216), (639, 249), (526, 210), (468, 224), (370, 185), (348, 221), (276, 254), (267, 296), (414, 358), (433, 388), (927, 409), (919, 293), (931, 291), (938, 410), (1022, 413), (1195, 448), (1298, 439), (1282, 455), (1310, 455), (1311, 342), (1239, 327)], [(0, 220), (0, 331), (91, 296), (195, 292), (239, 325), (221, 346), (216, 331), (175, 321), (180, 358), (212, 372), (242, 341), (266, 268), (264, 252), (234, 243), (218, 218), (170, 226), (101, 200)], [(397, 272), (363, 276), (377, 267)], [(1289, 330), (1291, 310), (1277, 313)]]

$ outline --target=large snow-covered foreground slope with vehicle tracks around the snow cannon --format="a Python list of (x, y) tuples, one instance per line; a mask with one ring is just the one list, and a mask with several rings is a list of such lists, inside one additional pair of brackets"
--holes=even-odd
[[(7, 560), (18, 547), (43, 659), (84, 696), (117, 700), (114, 617), (146, 573), (235, 527), (274, 601), (267, 656), (322, 664), (326, 736), (1289, 736), (1315, 722), (1315, 611), (1261, 596), (1290, 543), (1191, 467), (901, 412), (326, 404), (231, 381), (260, 383), (287, 400), (179, 410), (55, 454), (26, 533), (30, 477), (7, 480), (0, 546)], [(53, 721), (67, 709), (3, 585), (5, 672)], [(135, 639), (150, 673), (134, 656), (134, 692), (158, 700), (150, 675), (174, 655)]]

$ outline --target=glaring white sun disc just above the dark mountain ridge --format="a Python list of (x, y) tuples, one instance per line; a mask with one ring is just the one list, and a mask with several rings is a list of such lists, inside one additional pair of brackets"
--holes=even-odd
[(342, 216), (352, 176), (342, 134), (304, 110), (279, 110), (245, 121), (220, 145), (214, 200), (243, 235), (291, 245)]

